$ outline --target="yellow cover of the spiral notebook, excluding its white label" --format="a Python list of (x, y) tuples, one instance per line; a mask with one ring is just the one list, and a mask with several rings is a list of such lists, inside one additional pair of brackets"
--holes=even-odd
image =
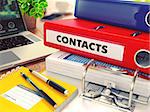
[[(42, 88), (57, 104), (57, 108), (54, 108), (45, 100), (40, 100), (36, 105), (34, 105), (31, 109), (27, 110), (24, 109), (8, 100), (3, 98), (3, 94), (7, 91), (11, 90), (12, 88), (16, 87), (18, 84), (22, 84), (27, 88), (34, 90), (34, 88), (20, 75), (20, 73), (25, 73), (26, 75), (30, 76), (31, 80), (34, 80), (34, 83), (39, 87)], [(75, 86), (72, 86), (68, 83), (63, 81), (54, 79), (50, 76), (48, 78), (57, 84), (61, 85), (62, 87), (66, 88), (69, 93), (67, 95), (63, 95), (53, 89), (52, 87), (47, 86), (46, 83), (41, 81), (36, 76), (32, 75), (28, 68), (20, 67), (15, 70), (12, 70), (0, 77), (0, 111), (6, 112), (60, 112), (64, 106), (70, 103), (77, 95), (78, 90)], [(13, 83), (12, 83), (13, 82)], [(7, 86), (6, 86), (7, 85)], [(25, 98), (25, 97), (24, 97)], [(33, 98), (31, 100), (34, 100)], [(8, 108), (9, 107), (9, 108)]]

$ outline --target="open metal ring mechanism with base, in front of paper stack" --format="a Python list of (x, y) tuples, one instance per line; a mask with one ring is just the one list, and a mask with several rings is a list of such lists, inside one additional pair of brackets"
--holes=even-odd
[(86, 64), (85, 71), (82, 76), (81, 98), (100, 104), (106, 104), (122, 112), (133, 112), (136, 103), (145, 105), (148, 104), (149, 98), (136, 95), (133, 92), (135, 88), (135, 82), (138, 77), (138, 70), (134, 72), (130, 91), (127, 92), (117, 89), (115, 87), (116, 85), (109, 81), (104, 85), (86, 81), (88, 68), (93, 66), (93, 64), (93, 59)]

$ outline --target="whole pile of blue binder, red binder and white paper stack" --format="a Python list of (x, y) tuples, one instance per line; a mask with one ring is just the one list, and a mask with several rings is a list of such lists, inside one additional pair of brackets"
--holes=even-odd
[(89, 81), (129, 92), (138, 71), (134, 93), (149, 98), (149, 7), (148, 2), (77, 0), (76, 19), (44, 25), (44, 44), (68, 52), (49, 56), (47, 71), (81, 79), (90, 59), (98, 60), (89, 67)]

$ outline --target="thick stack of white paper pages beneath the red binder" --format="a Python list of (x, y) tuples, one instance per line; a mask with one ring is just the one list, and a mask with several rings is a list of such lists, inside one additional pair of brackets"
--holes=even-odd
[[(91, 59), (58, 51), (46, 58), (46, 70), (77, 79), (82, 78), (85, 66)], [(109, 82), (119, 90), (129, 92), (135, 70), (112, 65), (102, 61), (94, 61), (89, 66), (86, 80), (106, 86)], [(138, 75), (150, 79), (149, 74), (138, 72)], [(144, 97), (150, 96), (150, 81), (137, 78), (134, 93)]]

